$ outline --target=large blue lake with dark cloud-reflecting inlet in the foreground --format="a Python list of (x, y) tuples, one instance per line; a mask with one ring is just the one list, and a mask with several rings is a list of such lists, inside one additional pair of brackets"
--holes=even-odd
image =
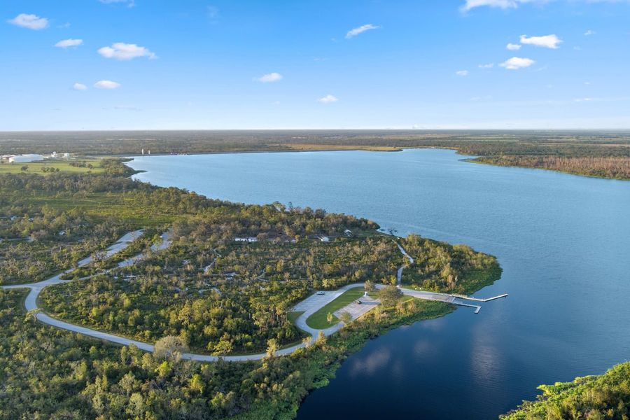
[(475, 165), (445, 150), (145, 156), (137, 179), (364, 216), (498, 257), (510, 293), (353, 354), (299, 419), (490, 419), (538, 384), (630, 360), (630, 182)]

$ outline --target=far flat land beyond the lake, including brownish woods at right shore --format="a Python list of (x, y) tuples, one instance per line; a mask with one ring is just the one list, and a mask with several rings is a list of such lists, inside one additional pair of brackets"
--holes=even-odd
[(630, 179), (627, 131), (267, 130), (0, 132), (2, 153), (87, 155), (229, 153), (363, 148), (453, 148), (491, 165)]

